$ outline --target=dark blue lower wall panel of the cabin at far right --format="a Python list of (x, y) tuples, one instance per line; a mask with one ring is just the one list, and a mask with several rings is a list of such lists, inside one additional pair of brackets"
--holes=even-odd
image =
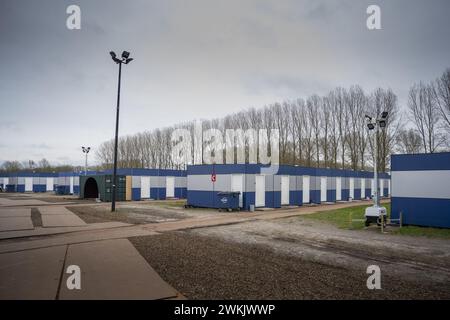
[(391, 198), (391, 217), (403, 224), (450, 228), (450, 199)]

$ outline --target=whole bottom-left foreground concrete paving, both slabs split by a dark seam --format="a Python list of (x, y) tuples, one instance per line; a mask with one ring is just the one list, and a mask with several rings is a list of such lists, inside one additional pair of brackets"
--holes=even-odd
[[(80, 268), (69, 290), (67, 267)], [(126, 239), (0, 254), (0, 299), (167, 299), (177, 297)]]

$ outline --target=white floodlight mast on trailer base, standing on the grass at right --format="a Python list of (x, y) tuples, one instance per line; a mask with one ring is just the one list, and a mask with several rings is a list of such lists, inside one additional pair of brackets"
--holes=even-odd
[(366, 115), (367, 128), (369, 131), (375, 130), (374, 134), (374, 155), (373, 155), (373, 178), (375, 191), (373, 193), (373, 206), (366, 208), (364, 214), (366, 218), (366, 226), (369, 226), (371, 222), (376, 222), (377, 224), (384, 224), (386, 221), (386, 208), (380, 206), (380, 194), (378, 191), (378, 132), (379, 128), (385, 128), (387, 123), (387, 112), (382, 112), (381, 116), (375, 118)]

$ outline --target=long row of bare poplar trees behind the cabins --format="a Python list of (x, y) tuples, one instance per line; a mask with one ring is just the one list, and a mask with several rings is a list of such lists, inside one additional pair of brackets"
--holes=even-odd
[[(436, 152), (449, 147), (450, 69), (436, 81), (415, 84), (408, 106), (400, 109), (390, 89), (366, 93), (359, 86), (336, 88), (325, 96), (250, 108), (221, 119), (202, 121), (203, 129), (278, 129), (280, 163), (315, 167), (373, 168), (374, 135), (365, 115), (389, 113), (378, 137), (379, 170), (389, 169), (392, 153)], [(171, 158), (171, 133), (176, 128), (194, 132), (194, 122), (120, 138), (119, 167), (176, 168)], [(270, 132), (269, 132), (270, 134)], [(96, 151), (101, 167), (113, 162), (113, 141)]]

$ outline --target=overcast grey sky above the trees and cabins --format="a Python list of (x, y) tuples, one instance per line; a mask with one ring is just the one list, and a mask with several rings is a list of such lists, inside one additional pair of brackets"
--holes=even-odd
[[(81, 30), (66, 8), (81, 8)], [(366, 28), (381, 7), (382, 30)], [(409, 86), (450, 67), (448, 0), (1, 0), (0, 162), (82, 164), (81, 145), (324, 94)]]

